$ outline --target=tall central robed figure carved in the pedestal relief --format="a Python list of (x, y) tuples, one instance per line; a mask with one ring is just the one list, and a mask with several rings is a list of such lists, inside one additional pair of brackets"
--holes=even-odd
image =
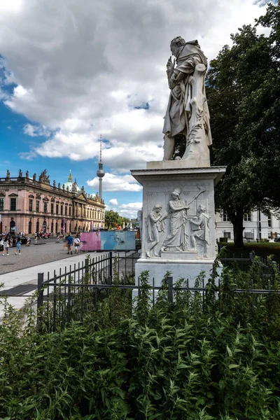
[(170, 233), (162, 244), (162, 251), (187, 251), (188, 248), (188, 218), (190, 208), (184, 200), (180, 200), (181, 188), (172, 192), (170, 207)]

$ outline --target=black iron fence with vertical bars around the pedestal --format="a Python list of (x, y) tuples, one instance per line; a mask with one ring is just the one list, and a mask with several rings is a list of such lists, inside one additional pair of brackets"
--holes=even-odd
[[(69, 270), (60, 269), (53, 276), (48, 273), (44, 278), (44, 274), (39, 273), (38, 321), (43, 320), (45, 328), (51, 332), (57, 328), (63, 328), (70, 321), (89, 321), (89, 317), (94, 321), (98, 311), (108, 310), (109, 316), (110, 313), (116, 314), (116, 306), (126, 308), (126, 314), (130, 316), (134, 307), (134, 297), (141, 295), (143, 290), (140, 279), (135, 280), (134, 264), (137, 258), (139, 258), (137, 254), (125, 254), (122, 258), (119, 254), (110, 252), (93, 261), (87, 259), (82, 264), (73, 265)], [(232, 262), (232, 259), (228, 260), (230, 261), (227, 263)], [(240, 263), (240, 260), (242, 263), (253, 262), (253, 258), (242, 258), (235, 262)], [(225, 260), (223, 263), (225, 264)], [(267, 307), (267, 314), (269, 314), (276, 300), (279, 302), (280, 309), (280, 290), (275, 281), (275, 273), (272, 272), (272, 269), (276, 272), (277, 267), (276, 265), (269, 267), (260, 261), (258, 263), (264, 274), (262, 287), (259, 281), (254, 282), (252, 279), (249, 287), (230, 286), (225, 290), (217, 277), (216, 283), (212, 281), (211, 286), (214, 299), (218, 301), (230, 295), (237, 314), (244, 310), (241, 308), (246, 307), (247, 314), (250, 312), (252, 316), (255, 316), (255, 311), (260, 306)], [(187, 277), (188, 273), (186, 273)], [(178, 293), (188, 293), (191, 298), (198, 293), (204, 307), (204, 302), (207, 301), (207, 295), (209, 295), (209, 283), (207, 284), (206, 281), (204, 276), (201, 276), (198, 287), (189, 287), (188, 280), (178, 286), (174, 284), (172, 276), (169, 276), (166, 283), (167, 299), (172, 303), (176, 300)], [(155, 286), (155, 279), (151, 279), (150, 283), (148, 287), (153, 305), (162, 287)]]

